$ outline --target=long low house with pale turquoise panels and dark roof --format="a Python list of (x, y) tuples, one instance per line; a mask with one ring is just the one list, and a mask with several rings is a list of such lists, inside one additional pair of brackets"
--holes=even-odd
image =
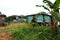
[(28, 22), (32, 22), (33, 16), (35, 16), (36, 22), (39, 25), (51, 26), (51, 22), (52, 22), (51, 15), (45, 12), (40, 12), (39, 14), (28, 15)]

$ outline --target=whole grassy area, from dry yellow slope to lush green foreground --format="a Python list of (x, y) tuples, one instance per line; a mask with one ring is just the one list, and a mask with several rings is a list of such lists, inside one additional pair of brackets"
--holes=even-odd
[[(11, 23), (0, 31), (11, 32), (12, 40), (60, 40), (60, 32), (54, 34), (49, 26), (35, 26), (27, 23)], [(60, 28), (59, 28), (60, 30)]]

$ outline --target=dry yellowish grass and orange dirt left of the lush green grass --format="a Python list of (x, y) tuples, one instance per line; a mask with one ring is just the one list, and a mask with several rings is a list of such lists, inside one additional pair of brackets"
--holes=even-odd
[[(11, 40), (10, 35), (12, 34), (12, 30), (16, 28), (21, 28), (23, 26), (27, 26), (26, 23), (10, 23), (7, 26), (0, 27), (0, 39), (1, 40)], [(6, 38), (7, 37), (7, 38)], [(5, 39), (6, 38), (6, 39)]]

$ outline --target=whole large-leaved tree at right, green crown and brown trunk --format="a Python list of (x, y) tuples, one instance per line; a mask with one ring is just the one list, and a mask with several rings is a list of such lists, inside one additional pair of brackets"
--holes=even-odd
[(56, 31), (56, 24), (57, 21), (60, 22), (60, 13), (59, 13), (59, 7), (60, 7), (60, 0), (55, 0), (54, 3), (52, 3), (49, 0), (43, 0), (43, 3), (45, 3), (45, 5), (36, 5), (37, 7), (43, 7), (44, 9), (48, 10), (49, 13), (52, 15), (52, 31)]

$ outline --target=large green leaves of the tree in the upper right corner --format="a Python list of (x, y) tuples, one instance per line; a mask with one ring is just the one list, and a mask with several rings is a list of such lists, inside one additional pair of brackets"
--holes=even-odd
[(59, 7), (60, 7), (60, 0), (55, 0), (54, 3), (52, 3), (50, 0), (43, 0), (43, 3), (46, 4), (45, 5), (36, 5), (37, 7), (43, 7), (44, 9), (48, 10), (53, 17), (55, 17), (55, 19), (57, 21), (60, 21), (60, 14), (59, 14)]

